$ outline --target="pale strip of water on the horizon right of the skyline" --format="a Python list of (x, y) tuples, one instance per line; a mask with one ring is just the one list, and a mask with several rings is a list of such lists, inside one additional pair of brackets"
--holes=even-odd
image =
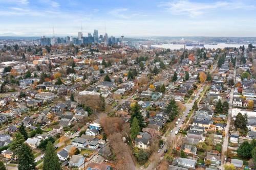
[[(227, 43), (218, 43), (218, 44), (216, 44), (216, 45), (204, 44), (204, 47), (205, 47), (206, 49), (208, 49), (208, 48), (211, 48), (211, 49), (215, 48), (215, 49), (217, 49), (217, 48), (225, 48), (225, 47), (237, 47), (237, 48), (239, 48), (240, 46), (243, 46), (243, 45), (244, 45), (245, 47), (248, 46), (248, 44), (227, 44)], [(183, 47), (184, 47), (183, 44), (172, 44), (172, 43), (170, 43), (170, 44), (161, 44), (161, 45), (151, 45), (151, 46), (154, 46), (154, 47), (161, 47), (161, 48), (169, 48), (170, 50), (180, 50), (180, 48), (183, 48)], [(191, 49), (193, 49), (193, 48), (195, 48), (195, 47), (196, 47), (196, 46), (186, 46), (186, 48), (187, 48), (188, 50), (191, 50)], [(202, 46), (198, 46), (198, 47), (202, 48)]]

